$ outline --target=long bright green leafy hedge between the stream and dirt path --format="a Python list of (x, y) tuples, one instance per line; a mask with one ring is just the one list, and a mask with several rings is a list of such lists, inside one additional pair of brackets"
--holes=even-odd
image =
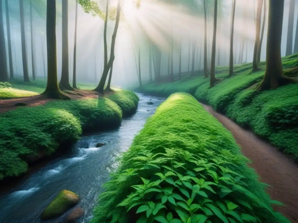
[(123, 153), (91, 222), (289, 222), (248, 161), (195, 98), (173, 94)]

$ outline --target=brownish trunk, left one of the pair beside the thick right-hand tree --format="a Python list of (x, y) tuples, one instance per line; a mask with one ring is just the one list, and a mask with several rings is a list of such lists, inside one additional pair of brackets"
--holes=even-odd
[(257, 56), (258, 56), (258, 49), (260, 48), (262, 6), (263, 6), (263, 0), (258, 0), (257, 20), (256, 20), (256, 36), (255, 36), (255, 41), (254, 41), (254, 58), (252, 61), (252, 71), (253, 72), (259, 70), (258, 63), (257, 63)]

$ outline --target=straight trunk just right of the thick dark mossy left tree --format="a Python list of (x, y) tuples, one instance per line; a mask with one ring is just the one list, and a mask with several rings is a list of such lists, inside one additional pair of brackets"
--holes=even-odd
[(68, 0), (62, 1), (62, 69), (59, 87), (62, 90), (73, 90), (69, 84)]

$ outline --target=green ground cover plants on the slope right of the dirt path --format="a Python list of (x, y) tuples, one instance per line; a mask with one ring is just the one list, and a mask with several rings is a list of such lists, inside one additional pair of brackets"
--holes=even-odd
[[(298, 54), (283, 57), (282, 61), (285, 75), (297, 77)], [(216, 77), (221, 81), (212, 88), (209, 87), (209, 78), (198, 76), (167, 83), (153, 82), (139, 90), (162, 96), (174, 92), (190, 93), (298, 161), (297, 84), (256, 91), (254, 86), (264, 76), (265, 62), (261, 62), (259, 68), (260, 71), (252, 73), (252, 63), (235, 65), (234, 76), (227, 78), (229, 68), (217, 67)]]

